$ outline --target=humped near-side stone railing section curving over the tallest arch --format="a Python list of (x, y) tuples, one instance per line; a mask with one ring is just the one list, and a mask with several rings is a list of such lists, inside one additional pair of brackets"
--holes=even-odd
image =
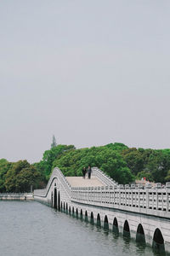
[(62, 183), (63, 188), (65, 189), (68, 196), (71, 196), (71, 185), (70, 185), (70, 183), (67, 182), (65, 176), (57, 167), (54, 168), (54, 170), (48, 180), (48, 184), (47, 184), (46, 188), (45, 189), (35, 189), (34, 195), (46, 197), (48, 195), (48, 190), (50, 189), (55, 178), (59, 179), (60, 183)]

